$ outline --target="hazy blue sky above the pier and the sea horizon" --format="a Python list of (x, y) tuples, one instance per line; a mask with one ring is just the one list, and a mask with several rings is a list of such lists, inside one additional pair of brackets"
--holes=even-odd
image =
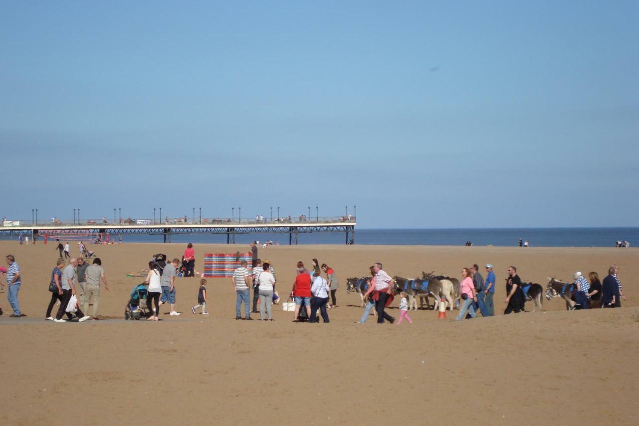
[(639, 2), (0, 1), (0, 215), (639, 226)]

